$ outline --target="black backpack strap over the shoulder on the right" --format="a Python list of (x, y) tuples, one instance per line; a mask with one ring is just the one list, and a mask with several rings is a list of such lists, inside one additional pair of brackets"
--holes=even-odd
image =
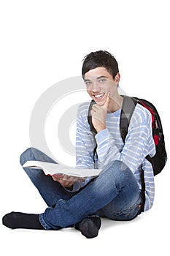
[(131, 121), (131, 116), (134, 113), (134, 108), (138, 102), (138, 99), (134, 99), (133, 97), (123, 96), (123, 106), (120, 114), (120, 134), (125, 142), (125, 137), (128, 134), (128, 126)]

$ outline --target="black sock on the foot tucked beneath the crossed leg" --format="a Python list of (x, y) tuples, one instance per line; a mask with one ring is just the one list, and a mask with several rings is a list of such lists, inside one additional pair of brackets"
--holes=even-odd
[(80, 230), (82, 235), (87, 238), (98, 236), (100, 227), (101, 219), (99, 217), (87, 217), (75, 225), (75, 229)]

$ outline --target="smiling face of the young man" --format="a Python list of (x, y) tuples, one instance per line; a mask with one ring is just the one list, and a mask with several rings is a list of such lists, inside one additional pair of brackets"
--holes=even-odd
[[(85, 85), (88, 94), (96, 104), (104, 105), (107, 99), (107, 94), (110, 91), (110, 98), (114, 101), (118, 97), (117, 86), (120, 81), (120, 74), (117, 73), (115, 79), (109, 74), (105, 67), (96, 67), (95, 69), (90, 69), (85, 73)], [(112, 105), (112, 100), (110, 104)]]

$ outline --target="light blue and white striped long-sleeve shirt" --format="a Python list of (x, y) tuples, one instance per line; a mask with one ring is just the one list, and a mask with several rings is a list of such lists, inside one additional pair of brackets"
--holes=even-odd
[[(90, 131), (88, 124), (88, 108), (90, 102), (85, 102), (78, 108), (77, 113), (77, 138), (76, 138), (76, 161), (77, 167), (93, 168), (93, 148), (97, 143), (96, 167), (104, 169), (115, 160), (120, 160), (127, 165), (134, 174), (139, 189), (141, 184), (141, 167), (144, 170), (145, 205), (144, 211), (152, 207), (154, 200), (154, 176), (152, 165), (145, 158), (148, 154), (155, 154), (155, 143), (152, 138), (152, 124), (150, 112), (137, 104), (128, 127), (128, 135), (125, 143), (120, 135), (121, 109), (107, 114), (106, 127), (95, 136)], [(73, 191), (85, 186), (90, 181), (77, 181)]]

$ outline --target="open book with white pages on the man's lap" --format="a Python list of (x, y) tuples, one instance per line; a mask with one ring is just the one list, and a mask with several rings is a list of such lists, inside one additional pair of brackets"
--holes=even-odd
[(66, 165), (53, 164), (51, 162), (27, 161), (23, 167), (41, 169), (46, 175), (61, 175), (75, 176), (80, 178), (96, 177), (101, 173), (102, 169), (79, 169), (68, 167)]

